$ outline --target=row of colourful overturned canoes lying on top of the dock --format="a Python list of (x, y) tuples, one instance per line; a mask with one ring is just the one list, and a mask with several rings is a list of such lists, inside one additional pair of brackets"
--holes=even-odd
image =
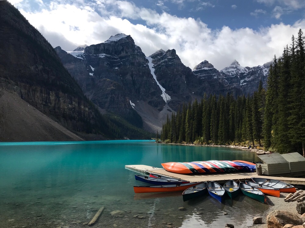
[(161, 164), (168, 172), (176, 174), (210, 174), (229, 172), (255, 172), (256, 164), (235, 160), (235, 161), (195, 161), (195, 162), (168, 162)]

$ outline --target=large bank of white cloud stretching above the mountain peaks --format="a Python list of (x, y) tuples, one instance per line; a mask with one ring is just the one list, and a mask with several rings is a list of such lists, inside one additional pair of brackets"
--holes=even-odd
[[(305, 20), (300, 20), (294, 25), (280, 23), (257, 31), (228, 26), (212, 30), (200, 19), (159, 14), (130, 2), (113, 0), (94, 4), (54, 1), (35, 12), (19, 9), (53, 47), (61, 46), (66, 51), (81, 44), (99, 44), (111, 35), (125, 33), (131, 35), (146, 56), (160, 48), (174, 48), (190, 68), (206, 59), (219, 70), (234, 59), (242, 66), (271, 61), (274, 54), (281, 55), (285, 45), (290, 44), (292, 34), (305, 28)], [(146, 25), (133, 24), (128, 19), (141, 19)]]

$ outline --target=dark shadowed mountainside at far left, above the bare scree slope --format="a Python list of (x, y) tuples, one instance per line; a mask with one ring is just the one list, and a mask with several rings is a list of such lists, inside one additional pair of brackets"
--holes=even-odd
[(109, 134), (48, 41), (9, 2), (0, 1), (0, 12), (1, 89), (71, 130)]

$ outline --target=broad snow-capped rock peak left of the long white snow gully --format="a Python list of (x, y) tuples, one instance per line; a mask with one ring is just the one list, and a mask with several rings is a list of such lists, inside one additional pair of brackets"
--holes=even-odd
[(141, 127), (142, 119), (135, 110), (146, 110), (143, 105), (163, 109), (165, 102), (149, 61), (131, 36), (117, 34), (84, 51), (55, 50), (85, 95), (102, 110), (120, 114)]

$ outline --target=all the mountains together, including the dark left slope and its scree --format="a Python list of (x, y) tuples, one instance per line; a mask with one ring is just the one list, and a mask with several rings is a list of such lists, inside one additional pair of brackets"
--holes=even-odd
[[(145, 56), (130, 35), (64, 51), (0, 1), (0, 140), (143, 139), (204, 93), (252, 94), (270, 63), (192, 70), (174, 49)], [(146, 130), (146, 131), (144, 131)]]

